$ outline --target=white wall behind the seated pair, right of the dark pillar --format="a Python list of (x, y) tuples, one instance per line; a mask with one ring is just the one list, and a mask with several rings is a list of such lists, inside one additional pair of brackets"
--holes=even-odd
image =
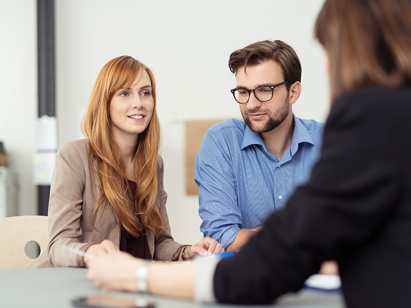
[(230, 89), (228, 57), (267, 38), (293, 46), (303, 66), (302, 118), (325, 120), (325, 56), (313, 38), (323, 0), (107, 1), (56, 0), (57, 101), (60, 143), (81, 136), (80, 120), (101, 67), (128, 54), (157, 77), (163, 132), (164, 185), (172, 232), (193, 243), (199, 232), (197, 197), (185, 195), (185, 119), (240, 117)]

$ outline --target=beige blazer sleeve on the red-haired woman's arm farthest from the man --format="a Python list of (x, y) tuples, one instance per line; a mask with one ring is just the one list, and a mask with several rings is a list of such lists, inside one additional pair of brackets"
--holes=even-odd
[(85, 266), (83, 257), (64, 247), (86, 251), (94, 243), (80, 243), (86, 158), (71, 143), (59, 148), (50, 185), (48, 259), (53, 267)]

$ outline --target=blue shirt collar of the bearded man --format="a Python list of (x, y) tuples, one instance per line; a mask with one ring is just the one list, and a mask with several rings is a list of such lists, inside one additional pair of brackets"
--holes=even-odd
[[(292, 135), (290, 150), (291, 155), (294, 155), (294, 153), (298, 149), (298, 144), (302, 142), (314, 144), (314, 141), (312, 140), (310, 134), (308, 133), (301, 120), (295, 117), (294, 113), (292, 114), (292, 124), (294, 125), (294, 132)], [(241, 150), (252, 144), (258, 144), (265, 148), (265, 144), (263, 139), (261, 138), (261, 135), (258, 132), (252, 131), (247, 125), (245, 125), (244, 138), (242, 139), (241, 143)]]

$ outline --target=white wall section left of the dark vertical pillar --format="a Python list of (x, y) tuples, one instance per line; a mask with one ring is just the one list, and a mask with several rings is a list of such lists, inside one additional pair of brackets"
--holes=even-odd
[(37, 117), (36, 1), (0, 0), (0, 140), (18, 176), (18, 213), (33, 215), (31, 182)]

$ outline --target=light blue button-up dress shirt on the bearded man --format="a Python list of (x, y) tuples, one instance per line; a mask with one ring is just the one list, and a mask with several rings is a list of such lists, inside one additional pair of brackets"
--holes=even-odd
[(309, 179), (320, 157), (324, 123), (293, 114), (293, 125), (291, 146), (280, 161), (244, 121), (230, 119), (206, 132), (194, 176), (205, 237), (227, 248), (241, 228), (262, 225)]

